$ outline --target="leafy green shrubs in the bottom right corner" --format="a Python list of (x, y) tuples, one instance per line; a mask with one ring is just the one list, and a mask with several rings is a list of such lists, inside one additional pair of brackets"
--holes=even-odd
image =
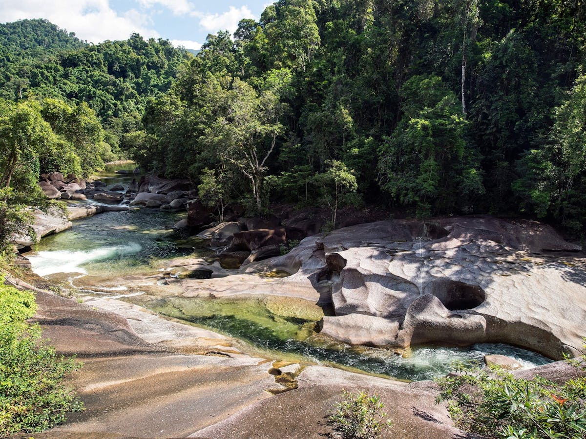
[[(578, 362), (576, 366), (581, 366)], [(586, 436), (586, 378), (563, 384), (459, 366), (438, 380), (457, 427), (489, 438), (580, 439)]]

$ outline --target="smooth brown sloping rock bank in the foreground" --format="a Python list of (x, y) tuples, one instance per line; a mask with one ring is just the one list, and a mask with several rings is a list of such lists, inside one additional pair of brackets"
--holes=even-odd
[(84, 363), (71, 383), (86, 410), (35, 437), (317, 437), (332, 431), (326, 417), (342, 389), (365, 388), (387, 403), (401, 437), (462, 433), (434, 404), (432, 383), (255, 358), (222, 334), (128, 303), (79, 304), (19, 285), (36, 290), (35, 321), (57, 352)]

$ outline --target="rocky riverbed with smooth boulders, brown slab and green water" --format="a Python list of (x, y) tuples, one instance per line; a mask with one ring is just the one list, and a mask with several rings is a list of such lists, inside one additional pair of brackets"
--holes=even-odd
[[(133, 177), (107, 184), (149, 190), (127, 204), (176, 189)], [(315, 437), (343, 388), (369, 388), (401, 437), (455, 437), (425, 378), (486, 354), (527, 369), (548, 360), (516, 347), (560, 359), (586, 332), (584, 254), (538, 222), (394, 219), (319, 233), (316, 215), (282, 211), (201, 231), (209, 212), (189, 198), (176, 203), (187, 213), (81, 203), (70, 215), (104, 213), (25, 253), (84, 302), (39, 291), (46, 336), (86, 363), (73, 383), (88, 410), (49, 435)], [(541, 368), (563, 371), (553, 364)]]

